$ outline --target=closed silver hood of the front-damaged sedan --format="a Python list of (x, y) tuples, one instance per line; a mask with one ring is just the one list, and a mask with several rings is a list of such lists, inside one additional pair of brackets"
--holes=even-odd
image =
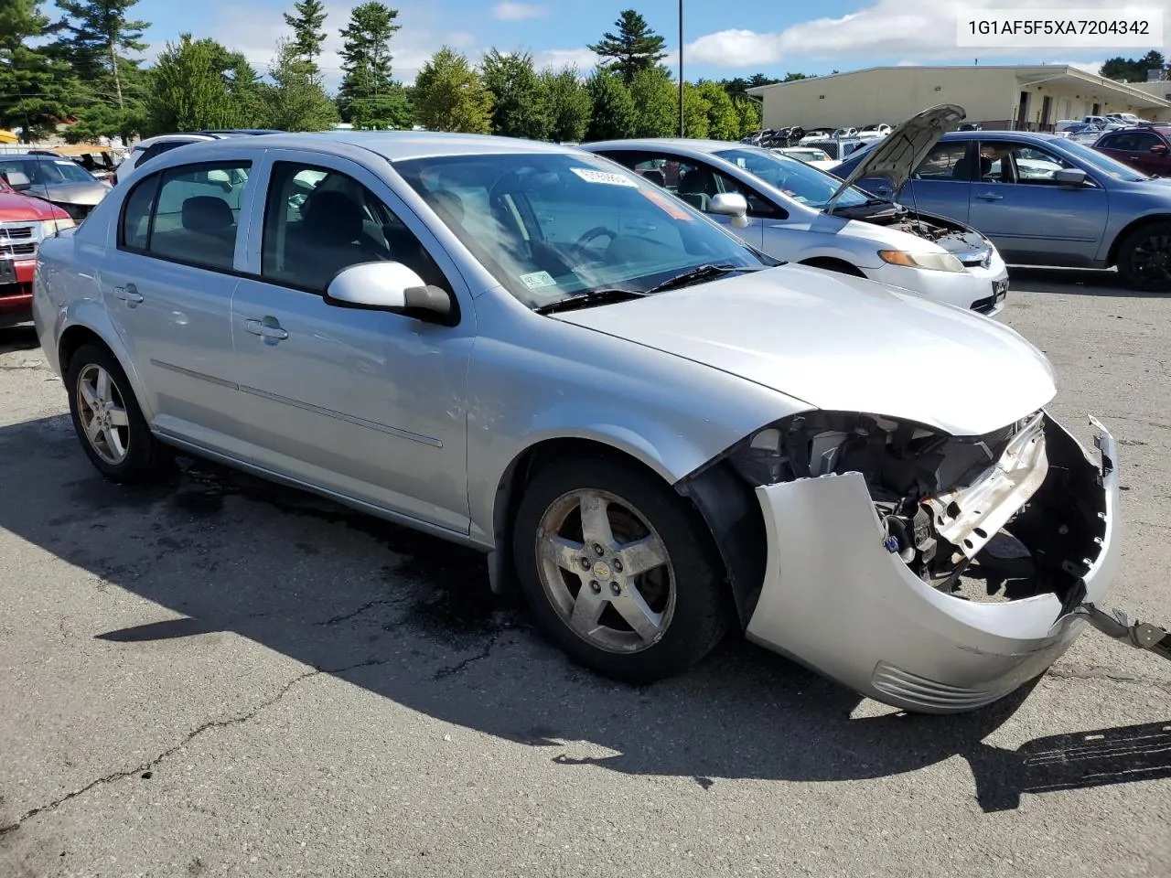
[(953, 435), (998, 430), (1055, 393), (1049, 362), (1007, 327), (804, 266), (550, 316), (810, 406), (885, 414)]

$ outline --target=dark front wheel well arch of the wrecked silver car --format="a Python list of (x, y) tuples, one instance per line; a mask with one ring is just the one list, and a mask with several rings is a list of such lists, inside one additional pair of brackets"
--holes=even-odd
[[(555, 460), (569, 458), (609, 458), (634, 464), (649, 473), (653, 472), (638, 458), (615, 448), (612, 445), (593, 439), (568, 437), (546, 439), (526, 448), (500, 476), (500, 483), (497, 486), (497, 499), (492, 506), (492, 531), (495, 549), (489, 561), (489, 578), (492, 590), (497, 594), (509, 588), (508, 583), (512, 582), (512, 524), (516, 520), (516, 509), (525, 495), (525, 486), (541, 467)], [(655, 475), (660, 478), (658, 473)]]

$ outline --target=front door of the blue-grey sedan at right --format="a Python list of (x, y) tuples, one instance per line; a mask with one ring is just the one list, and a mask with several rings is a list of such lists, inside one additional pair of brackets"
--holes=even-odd
[(1054, 174), (1074, 165), (1032, 144), (981, 140), (979, 162), (968, 222), (1006, 262), (1093, 265), (1108, 214), (1101, 186), (1057, 183)]

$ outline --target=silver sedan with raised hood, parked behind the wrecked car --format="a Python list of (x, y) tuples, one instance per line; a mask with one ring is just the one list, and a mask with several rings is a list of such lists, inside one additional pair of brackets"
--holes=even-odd
[[(879, 144), (892, 144), (898, 132)], [(995, 247), (967, 226), (842, 186), (830, 174), (772, 150), (721, 140), (644, 139), (582, 149), (643, 172), (769, 255), (912, 290), (982, 314), (1004, 307), (1008, 272)], [(725, 215), (730, 194), (748, 204), (748, 225)]]

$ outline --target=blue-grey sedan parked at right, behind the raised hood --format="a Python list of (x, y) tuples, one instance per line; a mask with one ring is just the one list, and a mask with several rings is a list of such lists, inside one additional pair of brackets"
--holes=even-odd
[(1117, 267), (1135, 289), (1171, 291), (1169, 179), (1027, 131), (945, 133), (913, 173), (893, 179), (856, 177), (865, 160), (851, 156), (833, 173), (978, 228), (1011, 265)]

